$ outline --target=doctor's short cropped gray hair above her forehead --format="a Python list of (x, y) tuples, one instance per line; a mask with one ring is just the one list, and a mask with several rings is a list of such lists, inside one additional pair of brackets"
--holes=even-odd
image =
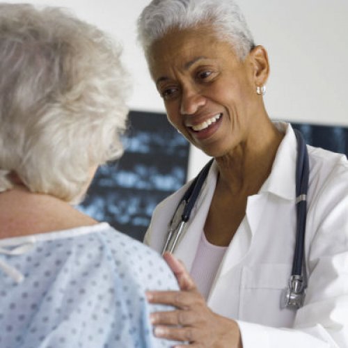
[(145, 55), (153, 42), (171, 29), (211, 25), (244, 59), (255, 46), (246, 20), (234, 0), (152, 0), (138, 19), (138, 38)]

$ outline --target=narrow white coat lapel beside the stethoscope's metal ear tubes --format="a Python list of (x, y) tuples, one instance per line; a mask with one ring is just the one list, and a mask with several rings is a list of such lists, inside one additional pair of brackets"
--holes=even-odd
[(200, 195), (198, 196), (197, 203), (192, 209), (191, 218), (187, 223), (187, 230), (184, 232), (184, 235), (174, 252), (174, 255), (184, 262), (189, 271), (191, 270), (193, 260), (196, 257), (200, 235), (203, 232), (210, 203), (212, 202), (212, 197), (214, 195), (216, 179), (217, 168), (216, 163), (213, 162)]

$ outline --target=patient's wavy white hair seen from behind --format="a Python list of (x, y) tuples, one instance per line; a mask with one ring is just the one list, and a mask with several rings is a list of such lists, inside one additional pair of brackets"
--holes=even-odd
[(0, 191), (75, 203), (93, 166), (122, 155), (120, 47), (67, 10), (0, 4)]

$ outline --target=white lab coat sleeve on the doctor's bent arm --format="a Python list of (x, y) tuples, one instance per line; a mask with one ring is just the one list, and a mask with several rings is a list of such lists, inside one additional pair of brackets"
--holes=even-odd
[(237, 321), (244, 348), (348, 347), (347, 161), (315, 188), (307, 231), (308, 289), (294, 325), (282, 329)]

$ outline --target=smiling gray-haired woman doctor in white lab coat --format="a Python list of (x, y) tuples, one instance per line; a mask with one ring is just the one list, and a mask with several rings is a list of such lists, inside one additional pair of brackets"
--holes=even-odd
[[(214, 157), (175, 257), (165, 253), (181, 291), (148, 292), (177, 308), (152, 313), (155, 334), (192, 347), (348, 347), (347, 158), (300, 151), (291, 125), (271, 122), (267, 52), (234, 1), (153, 0), (139, 38), (168, 120)], [(308, 192), (298, 195), (296, 160), (306, 151)], [(145, 243), (159, 252), (190, 184), (155, 209)], [(300, 201), (304, 283), (301, 301), (287, 306)]]

